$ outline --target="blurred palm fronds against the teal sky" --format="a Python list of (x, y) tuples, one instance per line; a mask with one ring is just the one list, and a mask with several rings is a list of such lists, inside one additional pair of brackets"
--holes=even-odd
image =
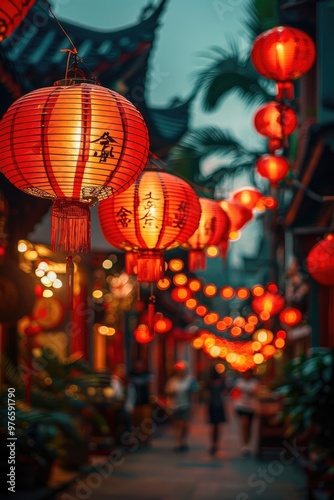
[[(254, 5), (248, 6), (247, 19), (245, 32), (254, 40), (263, 31)], [(243, 55), (232, 42), (227, 49), (212, 48), (205, 57), (209, 59), (208, 66), (195, 75), (195, 88), (197, 94), (201, 93), (205, 111), (216, 110), (232, 92), (242, 99), (246, 107), (254, 103), (260, 105), (273, 98), (272, 83), (254, 69), (249, 47)], [(246, 149), (228, 130), (211, 126), (190, 130), (171, 151), (169, 163), (180, 175), (202, 186), (215, 186), (224, 177), (233, 177), (247, 170), (256, 184), (254, 162), (264, 152), (263, 148)], [(212, 175), (203, 176), (201, 162), (212, 155), (223, 158), (223, 165)]]

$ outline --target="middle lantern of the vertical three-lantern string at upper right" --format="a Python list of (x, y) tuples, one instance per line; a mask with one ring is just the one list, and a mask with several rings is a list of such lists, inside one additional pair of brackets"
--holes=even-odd
[(297, 114), (291, 106), (275, 101), (260, 106), (254, 115), (257, 132), (269, 139), (269, 151), (273, 153), (282, 146), (297, 126)]

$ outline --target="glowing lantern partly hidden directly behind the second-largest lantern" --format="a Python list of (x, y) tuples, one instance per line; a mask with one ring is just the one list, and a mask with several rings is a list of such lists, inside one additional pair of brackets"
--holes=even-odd
[(228, 236), (230, 219), (217, 201), (208, 198), (199, 198), (201, 218), (196, 231), (190, 236), (183, 248), (189, 250), (189, 271), (195, 272), (205, 269), (204, 249), (207, 245), (218, 245)]

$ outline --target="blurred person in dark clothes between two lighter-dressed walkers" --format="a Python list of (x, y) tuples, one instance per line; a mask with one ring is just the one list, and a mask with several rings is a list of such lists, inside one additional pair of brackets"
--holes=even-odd
[(211, 447), (210, 453), (214, 455), (218, 449), (221, 434), (221, 423), (226, 422), (224, 405), (225, 381), (213, 366), (206, 384), (207, 409), (209, 423), (211, 424)]

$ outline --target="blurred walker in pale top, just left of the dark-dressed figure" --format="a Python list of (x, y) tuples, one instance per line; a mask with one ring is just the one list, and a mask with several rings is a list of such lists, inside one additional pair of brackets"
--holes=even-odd
[(165, 394), (171, 411), (175, 437), (175, 451), (187, 451), (192, 395), (198, 390), (196, 380), (189, 375), (188, 365), (179, 361), (174, 365), (174, 375), (166, 382)]

